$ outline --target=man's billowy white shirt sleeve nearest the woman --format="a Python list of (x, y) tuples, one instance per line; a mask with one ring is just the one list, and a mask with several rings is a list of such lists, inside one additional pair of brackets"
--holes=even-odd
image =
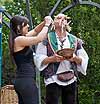
[(39, 43), (36, 49), (36, 54), (34, 56), (34, 63), (36, 67), (39, 69), (39, 71), (43, 71), (47, 66), (42, 64), (43, 60), (48, 57), (47, 56), (47, 48), (43, 43)]

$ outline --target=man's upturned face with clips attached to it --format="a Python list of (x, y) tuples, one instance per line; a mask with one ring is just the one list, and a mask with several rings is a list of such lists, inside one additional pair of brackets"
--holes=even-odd
[(58, 14), (54, 19), (55, 27), (65, 27), (67, 25), (67, 19), (64, 14)]

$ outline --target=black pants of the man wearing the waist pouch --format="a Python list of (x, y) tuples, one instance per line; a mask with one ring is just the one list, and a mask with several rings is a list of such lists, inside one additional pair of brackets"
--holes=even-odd
[(46, 87), (46, 104), (59, 104), (60, 95), (62, 104), (79, 104), (76, 92), (76, 82), (68, 86), (49, 84)]

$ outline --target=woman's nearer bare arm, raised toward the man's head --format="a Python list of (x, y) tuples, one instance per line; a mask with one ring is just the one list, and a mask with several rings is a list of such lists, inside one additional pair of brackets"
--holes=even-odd
[(39, 42), (43, 41), (47, 37), (48, 29), (51, 23), (52, 18), (50, 16), (46, 16), (45, 25), (37, 36), (34, 37), (18, 36), (15, 38), (15, 46), (25, 47), (30, 45), (36, 45)]

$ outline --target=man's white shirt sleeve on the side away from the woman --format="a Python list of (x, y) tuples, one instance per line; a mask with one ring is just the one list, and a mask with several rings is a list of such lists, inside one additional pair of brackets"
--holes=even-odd
[(77, 70), (83, 75), (86, 75), (89, 57), (83, 47), (77, 50), (77, 56), (82, 59), (81, 65), (77, 65)]

